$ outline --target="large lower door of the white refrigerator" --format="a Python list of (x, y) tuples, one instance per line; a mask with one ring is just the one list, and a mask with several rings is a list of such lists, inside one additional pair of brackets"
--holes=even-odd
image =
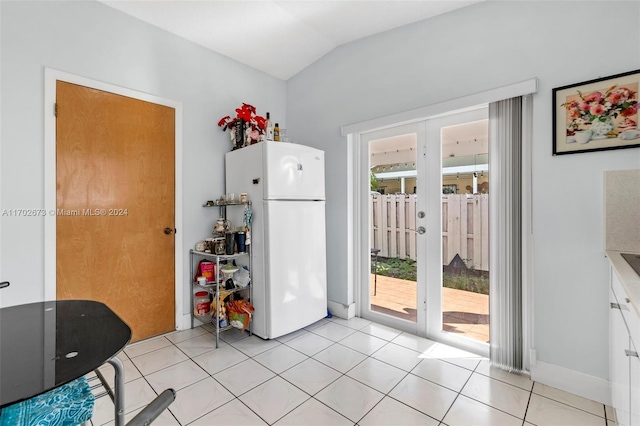
[(265, 201), (266, 329), (276, 338), (327, 315), (324, 201)]

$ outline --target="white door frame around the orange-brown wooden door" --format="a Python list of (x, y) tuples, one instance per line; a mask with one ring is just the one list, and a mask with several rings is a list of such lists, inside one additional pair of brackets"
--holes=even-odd
[[(182, 103), (161, 98), (148, 93), (138, 92), (102, 81), (70, 74), (64, 71), (45, 68), (44, 70), (44, 300), (56, 300), (56, 81), (77, 84), (127, 96), (145, 102), (167, 106), (175, 110), (175, 228), (182, 228)], [(183, 291), (182, 278), (182, 237), (176, 233), (174, 246), (175, 265), (175, 323), (182, 328)]]

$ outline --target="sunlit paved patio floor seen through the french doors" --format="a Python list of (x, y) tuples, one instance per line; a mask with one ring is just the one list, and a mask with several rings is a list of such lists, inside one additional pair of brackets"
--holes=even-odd
[[(374, 275), (371, 275), (372, 310), (416, 321), (415, 281), (378, 275), (375, 296), (373, 290)], [(489, 296), (445, 287), (442, 298), (445, 331), (489, 342)]]

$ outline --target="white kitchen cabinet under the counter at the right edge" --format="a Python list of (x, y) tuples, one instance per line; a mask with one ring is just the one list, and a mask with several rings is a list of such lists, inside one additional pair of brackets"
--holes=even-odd
[(640, 426), (640, 359), (634, 341), (640, 320), (613, 269), (609, 303), (611, 402), (618, 425)]

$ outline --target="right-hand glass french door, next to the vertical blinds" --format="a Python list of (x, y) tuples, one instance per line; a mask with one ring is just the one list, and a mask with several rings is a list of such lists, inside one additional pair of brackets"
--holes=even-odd
[(435, 182), (426, 194), (434, 219), (427, 233), (427, 335), (488, 353), (488, 111), (432, 119), (427, 129), (427, 152), (441, 160), (427, 165), (426, 179)]

